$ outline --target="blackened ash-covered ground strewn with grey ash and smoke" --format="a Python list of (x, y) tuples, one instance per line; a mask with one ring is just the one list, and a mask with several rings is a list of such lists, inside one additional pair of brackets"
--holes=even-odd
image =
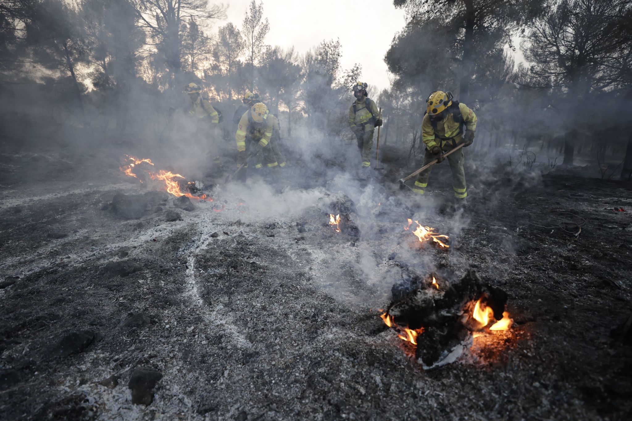
[[(114, 159), (2, 162), (3, 420), (631, 415), (631, 348), (611, 338), (632, 307), (629, 183), (470, 163), (463, 212), (447, 164), (423, 201), (401, 169), (295, 162), (270, 188), (222, 185), (227, 164), (204, 180), (214, 202), (185, 210)], [(117, 193), (140, 207), (121, 214)], [(343, 195), (357, 231), (336, 233)], [(451, 248), (420, 247), (408, 217)], [(515, 324), (423, 371), (379, 314), (407, 271), (439, 264), (503, 288)]]

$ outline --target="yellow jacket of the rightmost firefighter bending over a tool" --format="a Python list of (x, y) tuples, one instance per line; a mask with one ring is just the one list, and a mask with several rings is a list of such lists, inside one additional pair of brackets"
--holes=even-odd
[[(459, 103), (459, 111), (463, 118), (463, 124), (468, 130), (476, 130), (478, 119), (474, 111), (461, 103)], [(458, 121), (458, 116), (455, 121), (454, 114), (450, 112), (450, 107), (447, 109), (446, 117), (442, 121), (437, 121), (435, 126), (432, 126), (428, 114), (423, 116), (422, 142), (426, 145), (427, 149), (432, 149), (434, 146), (443, 147), (446, 142), (451, 140), (459, 142), (461, 137), (463, 137), (461, 122)]]

